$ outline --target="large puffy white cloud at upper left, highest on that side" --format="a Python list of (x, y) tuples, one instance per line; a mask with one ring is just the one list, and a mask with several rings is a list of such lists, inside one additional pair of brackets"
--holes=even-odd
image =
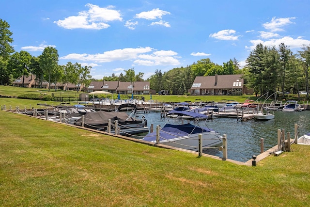
[(69, 16), (63, 20), (54, 21), (58, 26), (65, 29), (94, 29), (101, 30), (110, 27), (109, 21), (122, 21), (119, 11), (114, 10), (113, 6), (101, 8), (91, 3), (86, 4), (90, 9), (78, 13), (78, 16)]

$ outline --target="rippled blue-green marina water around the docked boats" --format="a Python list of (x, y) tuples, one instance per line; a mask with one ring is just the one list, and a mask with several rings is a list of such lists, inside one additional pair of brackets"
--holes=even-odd
[[(264, 150), (278, 144), (278, 129), (285, 129), (285, 137), (287, 132), (291, 132), (291, 139), (294, 138), (294, 124), (299, 125), (299, 136), (310, 132), (310, 111), (275, 111), (274, 114), (276, 118), (268, 121), (252, 119), (241, 122), (234, 118), (214, 118), (207, 120), (206, 125), (221, 135), (227, 135), (229, 159), (246, 162), (252, 158), (252, 155), (260, 154), (261, 138), (264, 138)], [(159, 112), (145, 113), (144, 115), (148, 126), (153, 124), (154, 128), (157, 125), (163, 126), (167, 121), (167, 118), (160, 117)], [(222, 156), (222, 152), (217, 150), (212, 150), (209, 154)]]

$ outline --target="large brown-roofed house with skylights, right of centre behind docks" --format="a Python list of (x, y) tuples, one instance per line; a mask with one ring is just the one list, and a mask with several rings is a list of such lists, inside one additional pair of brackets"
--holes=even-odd
[(242, 74), (197, 76), (188, 90), (192, 95), (242, 95), (248, 92)]

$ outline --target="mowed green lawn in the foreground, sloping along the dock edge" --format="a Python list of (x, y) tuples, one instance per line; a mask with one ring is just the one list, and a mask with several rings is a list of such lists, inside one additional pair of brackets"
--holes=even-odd
[(0, 206), (309, 206), (310, 146), (256, 167), (0, 111)]

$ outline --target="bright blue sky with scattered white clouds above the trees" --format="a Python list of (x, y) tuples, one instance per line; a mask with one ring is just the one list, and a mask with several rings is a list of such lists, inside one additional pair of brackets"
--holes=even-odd
[(134, 68), (144, 79), (204, 58), (245, 65), (258, 43), (310, 45), (309, 0), (3, 0), (13, 46), (51, 46), (59, 64), (92, 66), (95, 79)]

